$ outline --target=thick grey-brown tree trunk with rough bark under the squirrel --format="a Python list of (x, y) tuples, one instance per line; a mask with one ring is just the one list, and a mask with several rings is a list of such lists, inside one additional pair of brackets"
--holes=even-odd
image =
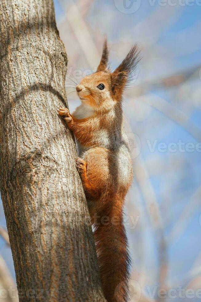
[(20, 301), (105, 301), (50, 0), (0, 1), (0, 189)]

